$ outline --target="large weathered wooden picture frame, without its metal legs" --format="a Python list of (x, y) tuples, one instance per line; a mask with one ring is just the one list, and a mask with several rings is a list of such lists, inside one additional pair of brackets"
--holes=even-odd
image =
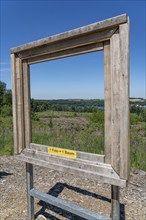
[[(31, 143), (29, 65), (104, 50), (105, 155), (53, 156)], [(129, 176), (129, 17), (121, 15), (11, 49), (15, 154), (51, 167), (125, 187)]]

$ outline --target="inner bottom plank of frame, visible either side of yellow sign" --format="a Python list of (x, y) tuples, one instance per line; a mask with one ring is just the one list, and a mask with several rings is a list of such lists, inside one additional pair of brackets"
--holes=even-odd
[[(31, 143), (30, 149), (42, 151), (42, 152), (48, 152), (48, 146), (41, 144)], [(82, 160), (89, 160), (92, 162), (104, 163), (104, 155), (100, 155), (100, 154), (92, 154), (92, 153), (77, 151), (77, 158)]]

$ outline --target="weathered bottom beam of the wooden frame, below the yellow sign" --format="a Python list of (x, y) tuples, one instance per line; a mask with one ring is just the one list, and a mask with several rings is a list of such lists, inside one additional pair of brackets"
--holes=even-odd
[(109, 183), (121, 187), (126, 186), (126, 181), (120, 179), (109, 164), (95, 164), (80, 159), (63, 158), (30, 149), (23, 150), (23, 153), (17, 158), (27, 163), (78, 175), (83, 178), (95, 179), (101, 183)]

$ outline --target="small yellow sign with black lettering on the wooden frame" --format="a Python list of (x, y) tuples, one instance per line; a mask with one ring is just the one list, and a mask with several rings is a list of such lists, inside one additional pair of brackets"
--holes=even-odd
[(57, 155), (57, 156), (62, 156), (62, 157), (70, 157), (70, 158), (77, 158), (77, 152), (73, 150), (67, 150), (67, 149), (62, 149), (62, 148), (57, 148), (57, 147), (48, 147), (48, 153)]

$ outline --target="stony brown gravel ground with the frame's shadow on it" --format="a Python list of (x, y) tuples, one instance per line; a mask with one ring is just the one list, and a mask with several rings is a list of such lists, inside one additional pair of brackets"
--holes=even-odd
[[(110, 216), (110, 186), (89, 179), (34, 167), (34, 186), (42, 192)], [(120, 189), (121, 220), (146, 219), (146, 173), (135, 171), (128, 187)], [(77, 216), (35, 200), (36, 218), (80, 220)], [(0, 157), (0, 220), (27, 220), (25, 163)]]

